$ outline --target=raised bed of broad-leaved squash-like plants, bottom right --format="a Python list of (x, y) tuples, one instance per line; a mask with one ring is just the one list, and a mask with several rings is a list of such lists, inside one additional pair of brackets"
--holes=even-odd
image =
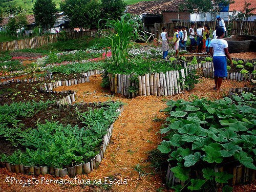
[[(216, 190), (255, 179), (256, 96), (167, 101), (158, 149), (169, 154), (169, 187)], [(224, 190), (224, 189), (223, 189)]]

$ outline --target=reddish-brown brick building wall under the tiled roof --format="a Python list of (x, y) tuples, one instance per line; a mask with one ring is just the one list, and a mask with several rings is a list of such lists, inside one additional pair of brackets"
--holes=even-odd
[[(176, 11), (162, 12), (162, 14), (163, 14), (163, 23), (170, 23), (170, 22), (178, 20), (179, 12), (178, 11), (177, 12)], [(190, 13), (180, 11), (179, 20), (182, 22), (189, 22), (190, 21)]]

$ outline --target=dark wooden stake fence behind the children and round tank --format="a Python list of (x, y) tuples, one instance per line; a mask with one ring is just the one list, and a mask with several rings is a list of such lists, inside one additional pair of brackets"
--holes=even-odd
[[(195, 29), (197, 29), (197, 25), (204, 22), (196, 22)], [(212, 29), (215, 26), (215, 22), (206, 22), (206, 24)], [(228, 30), (228, 35), (238, 35), (240, 34), (242, 20), (234, 20), (231, 22), (225, 22), (226, 28)], [(190, 27), (190, 22), (179, 22), (179, 26)], [(177, 26), (177, 23), (156, 23), (154, 26), (147, 27), (146, 31), (153, 32), (156, 38), (161, 38), (162, 28), (166, 27), (167, 33), (169, 36), (172, 36), (174, 33), (174, 26)], [(242, 28), (242, 34), (244, 35), (256, 35), (256, 22), (244, 22)]]

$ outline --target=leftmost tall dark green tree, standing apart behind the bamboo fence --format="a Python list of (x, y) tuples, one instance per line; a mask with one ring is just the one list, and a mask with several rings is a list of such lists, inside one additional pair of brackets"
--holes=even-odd
[(54, 26), (56, 20), (56, 4), (52, 0), (36, 0), (33, 12), (36, 24), (40, 25), (42, 29), (48, 31)]

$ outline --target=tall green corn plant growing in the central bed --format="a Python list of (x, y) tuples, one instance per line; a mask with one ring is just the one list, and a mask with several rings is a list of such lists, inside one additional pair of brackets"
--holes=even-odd
[[(130, 14), (124, 14), (120, 20), (100, 19), (99, 23), (104, 24), (101, 27), (101, 34), (106, 37), (106, 51), (111, 47), (112, 65), (126, 65), (129, 57), (129, 49), (131, 49), (132, 41), (137, 39), (144, 40), (144, 37), (139, 33), (143, 33), (141, 29), (141, 20), (138, 17), (132, 17)], [(113, 29), (108, 30), (106, 28)]]

